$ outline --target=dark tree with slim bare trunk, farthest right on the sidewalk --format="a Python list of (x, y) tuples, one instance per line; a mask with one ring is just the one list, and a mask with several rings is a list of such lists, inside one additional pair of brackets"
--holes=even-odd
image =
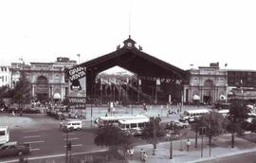
[(229, 109), (229, 124), (227, 130), (231, 132), (231, 148), (234, 148), (234, 134), (242, 133), (242, 123), (247, 119), (249, 112), (245, 100), (232, 100)]

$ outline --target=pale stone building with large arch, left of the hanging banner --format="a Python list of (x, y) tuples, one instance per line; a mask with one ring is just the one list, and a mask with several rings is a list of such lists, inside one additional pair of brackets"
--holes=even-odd
[(75, 61), (59, 57), (54, 63), (30, 63), (23, 71), (31, 82), (34, 100), (64, 100), (68, 83), (64, 81), (64, 70), (76, 65)]

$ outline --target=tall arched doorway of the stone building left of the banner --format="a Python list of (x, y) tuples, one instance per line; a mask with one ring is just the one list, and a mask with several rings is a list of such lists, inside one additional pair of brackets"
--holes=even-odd
[(40, 76), (37, 78), (36, 87), (35, 87), (35, 95), (37, 100), (45, 102), (48, 99), (48, 81), (45, 76)]

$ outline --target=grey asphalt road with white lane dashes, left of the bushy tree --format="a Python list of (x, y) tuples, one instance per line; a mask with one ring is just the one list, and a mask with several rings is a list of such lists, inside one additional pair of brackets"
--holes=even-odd
[[(40, 116), (37, 119), (40, 120)], [(16, 127), (9, 131), (10, 141), (30, 144), (31, 153), (27, 157), (65, 154), (66, 133), (61, 131), (59, 121), (54, 119), (55, 122), (54, 120), (52, 122), (52, 118), (46, 117), (44, 119), (51, 122), (31, 125), (26, 128)], [(68, 139), (72, 143), (72, 153), (102, 150), (101, 147), (94, 144), (94, 133), (95, 129), (86, 128), (69, 133)], [(18, 156), (0, 158), (0, 162), (15, 158)]]

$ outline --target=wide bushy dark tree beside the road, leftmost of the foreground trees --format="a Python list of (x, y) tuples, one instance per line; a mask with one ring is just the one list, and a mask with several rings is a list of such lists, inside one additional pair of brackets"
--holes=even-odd
[(114, 125), (106, 125), (98, 129), (94, 143), (100, 146), (109, 147), (109, 150), (118, 153), (119, 150), (125, 154), (132, 146), (132, 136), (125, 134)]

